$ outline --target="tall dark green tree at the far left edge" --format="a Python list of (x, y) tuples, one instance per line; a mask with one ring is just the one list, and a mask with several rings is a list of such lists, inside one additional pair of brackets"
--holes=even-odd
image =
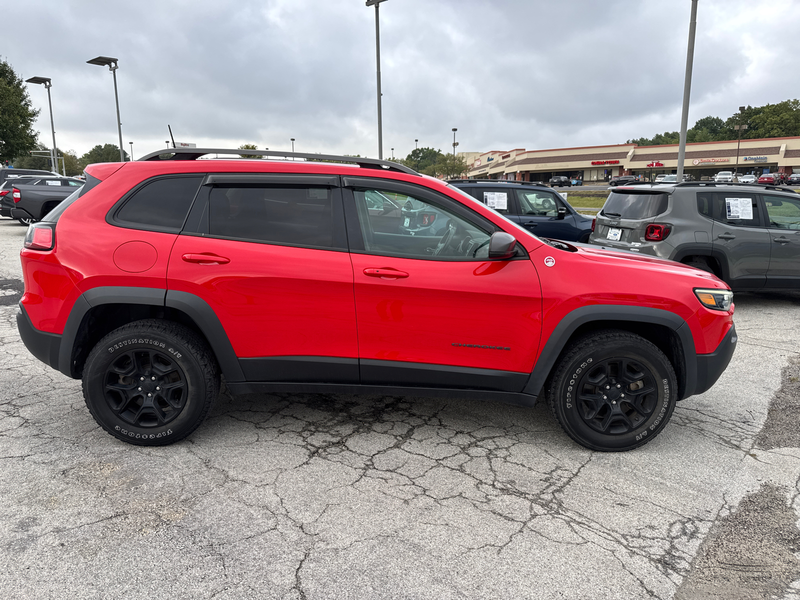
[(39, 111), (31, 107), (22, 78), (6, 61), (0, 61), (0, 160), (24, 156), (36, 146), (33, 130)]

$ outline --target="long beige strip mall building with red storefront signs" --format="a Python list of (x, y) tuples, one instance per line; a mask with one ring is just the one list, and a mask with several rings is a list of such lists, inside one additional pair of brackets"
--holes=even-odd
[[(643, 175), (650, 178), (678, 169), (678, 145), (583, 146), (555, 150), (514, 150), (465, 152), (470, 178), (547, 181), (566, 175), (584, 182), (603, 182), (615, 175)], [(800, 173), (800, 137), (766, 138), (737, 142), (686, 144), (684, 172), (698, 181), (719, 171), (762, 174), (779, 171)]]

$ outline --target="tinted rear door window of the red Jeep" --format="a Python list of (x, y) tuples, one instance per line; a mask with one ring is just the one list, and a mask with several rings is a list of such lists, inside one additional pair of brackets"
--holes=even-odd
[(216, 185), (209, 195), (208, 233), (292, 246), (341, 246), (334, 244), (333, 191), (322, 186)]

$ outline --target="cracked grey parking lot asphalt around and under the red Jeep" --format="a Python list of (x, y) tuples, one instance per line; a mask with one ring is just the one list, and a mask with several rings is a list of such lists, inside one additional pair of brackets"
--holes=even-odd
[(737, 294), (722, 378), (627, 453), (543, 404), (333, 394), (225, 393), (142, 448), (20, 342), (24, 232), (0, 219), (3, 598), (800, 598), (800, 295)]

